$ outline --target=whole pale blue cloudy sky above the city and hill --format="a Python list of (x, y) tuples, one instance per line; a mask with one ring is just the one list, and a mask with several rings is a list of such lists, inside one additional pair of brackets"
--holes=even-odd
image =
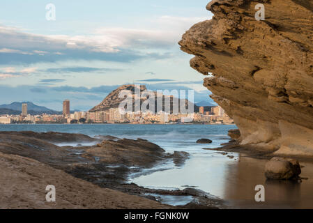
[[(47, 20), (55, 6), (55, 20)], [(0, 104), (31, 101), (86, 111), (122, 84), (193, 89), (211, 101), (204, 76), (178, 41), (212, 14), (208, 0), (3, 0), (0, 7)], [(48, 18), (49, 18), (48, 16)]]

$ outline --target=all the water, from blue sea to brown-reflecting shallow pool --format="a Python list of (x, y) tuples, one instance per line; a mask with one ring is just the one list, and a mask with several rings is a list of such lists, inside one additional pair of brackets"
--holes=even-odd
[[(221, 153), (209, 150), (227, 143), (228, 130), (236, 125), (0, 125), (0, 131), (68, 132), (112, 135), (119, 138), (147, 139), (167, 153), (184, 151), (190, 154), (183, 165), (170, 161), (141, 173), (130, 174), (129, 183), (166, 190), (192, 187), (225, 201), (227, 208), (313, 208), (313, 164), (303, 165), (302, 182), (266, 180), (266, 160), (248, 157), (243, 153)], [(197, 144), (197, 139), (211, 139), (212, 144)], [(76, 144), (60, 144), (59, 146)], [(90, 144), (86, 144), (90, 145)], [(257, 201), (258, 185), (264, 186), (265, 201)], [(192, 197), (163, 196), (160, 201), (184, 205)]]

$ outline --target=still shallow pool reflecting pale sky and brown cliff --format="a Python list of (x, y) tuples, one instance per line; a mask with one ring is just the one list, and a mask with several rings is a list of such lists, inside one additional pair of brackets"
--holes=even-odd
[[(227, 155), (234, 155), (230, 159)], [(132, 182), (144, 187), (194, 186), (224, 199), (229, 208), (313, 208), (313, 164), (305, 167), (302, 183), (266, 180), (266, 160), (245, 157), (238, 153), (222, 155), (214, 151), (192, 154), (181, 168), (157, 171), (135, 178)], [(238, 160), (235, 160), (238, 159)], [(265, 202), (257, 202), (256, 185), (264, 185)]]

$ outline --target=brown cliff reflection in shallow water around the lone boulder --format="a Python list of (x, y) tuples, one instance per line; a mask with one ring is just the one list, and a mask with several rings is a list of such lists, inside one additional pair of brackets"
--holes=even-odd
[[(236, 208), (313, 208), (313, 164), (303, 163), (301, 183), (288, 180), (266, 180), (266, 160), (240, 155), (240, 162), (229, 165), (224, 185), (224, 199)], [(256, 202), (256, 185), (264, 185), (265, 202)]]

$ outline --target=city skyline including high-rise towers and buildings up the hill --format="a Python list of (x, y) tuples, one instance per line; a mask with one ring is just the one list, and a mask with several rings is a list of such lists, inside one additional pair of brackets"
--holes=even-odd
[[(123, 86), (125, 87), (125, 86)], [(127, 87), (127, 86), (126, 86)], [(137, 86), (138, 87), (138, 86)], [(136, 87), (135, 87), (136, 88)], [(140, 88), (139, 88), (140, 89)], [(144, 89), (142, 89), (144, 90)], [(139, 91), (140, 92), (140, 91)], [(145, 91), (139, 93), (139, 98), (135, 99), (140, 102), (142, 95), (145, 95)], [(146, 91), (147, 92), (147, 91)], [(152, 93), (152, 92), (151, 92)], [(107, 97), (109, 98), (109, 96)], [(105, 100), (107, 100), (105, 98)], [(167, 100), (162, 98), (165, 105)], [(75, 123), (132, 123), (132, 124), (167, 124), (167, 123), (208, 123), (208, 124), (231, 124), (234, 120), (229, 118), (224, 113), (224, 109), (220, 106), (199, 106), (198, 112), (194, 112), (194, 107), (189, 109), (190, 104), (185, 104), (185, 100), (176, 98), (178, 100), (174, 104), (174, 98), (172, 104), (169, 103), (169, 108), (163, 107), (162, 110), (158, 109), (146, 109), (146, 102), (150, 107), (150, 103), (155, 103), (146, 99), (146, 102), (140, 102), (140, 110), (131, 111), (125, 109), (125, 107), (109, 107), (104, 111), (92, 111), (89, 112), (71, 112), (70, 100), (63, 100), (62, 114), (47, 114), (42, 112), (41, 114), (32, 115), (28, 112), (28, 103), (22, 102), (20, 115), (2, 114), (0, 115), (0, 123), (63, 123), (63, 124), (75, 124)], [(127, 101), (127, 100), (125, 100)], [(163, 103), (162, 102), (162, 103)], [(169, 102), (169, 101), (168, 101)], [(189, 102), (189, 101), (188, 101)], [(136, 103), (136, 102), (135, 102)], [(187, 110), (176, 109), (174, 107), (180, 106), (183, 103), (188, 106)], [(122, 101), (123, 104), (123, 101)], [(36, 106), (36, 105), (33, 105)], [(127, 104), (127, 107), (129, 105)], [(132, 107), (132, 105), (131, 105)], [(170, 109), (172, 107), (172, 109)], [(47, 108), (46, 108), (47, 109)]]

